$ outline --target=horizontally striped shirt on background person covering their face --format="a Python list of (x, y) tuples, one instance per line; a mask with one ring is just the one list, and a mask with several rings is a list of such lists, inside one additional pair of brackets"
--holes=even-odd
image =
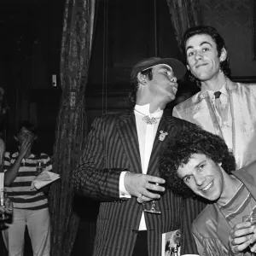
[[(4, 172), (6, 172), (10, 166), (15, 163), (19, 153), (10, 155), (9, 152), (4, 154)], [(42, 163), (44, 171), (50, 171), (52, 169), (49, 155), (31, 154), (28, 158), (23, 159), (20, 163), (20, 168), (17, 177), (9, 187), (5, 187), (11, 201), (14, 203), (14, 208), (27, 209), (27, 210), (39, 210), (48, 207), (48, 199), (44, 192), (31, 189), (32, 181), (36, 177), (36, 166), (38, 161)]]

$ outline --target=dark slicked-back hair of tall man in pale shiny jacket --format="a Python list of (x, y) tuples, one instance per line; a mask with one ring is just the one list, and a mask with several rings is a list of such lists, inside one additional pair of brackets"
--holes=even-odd
[[(181, 41), (181, 49), (183, 52), (183, 55), (186, 56), (186, 42), (189, 38), (194, 37), (195, 35), (202, 35), (202, 34), (206, 34), (208, 36), (210, 36), (212, 38), (212, 40), (215, 42), (216, 46), (217, 46), (217, 50), (218, 50), (218, 57), (221, 55), (221, 51), (222, 49), (227, 49), (225, 42), (224, 42), (224, 38), (222, 38), (220, 36), (220, 34), (218, 33), (218, 31), (216, 30), (216, 28), (212, 27), (212, 26), (193, 26), (190, 27), (186, 32), (184, 32), (183, 34), (183, 38)], [(186, 57), (185, 57), (186, 59)], [(229, 57), (227, 56), (227, 58), (224, 61), (220, 62), (220, 69), (224, 72), (224, 74), (227, 77), (230, 77), (230, 61), (229, 61)], [(201, 81), (199, 79), (196, 79), (195, 76), (189, 72), (189, 79), (192, 82), (196, 82), (196, 84), (201, 87)]]

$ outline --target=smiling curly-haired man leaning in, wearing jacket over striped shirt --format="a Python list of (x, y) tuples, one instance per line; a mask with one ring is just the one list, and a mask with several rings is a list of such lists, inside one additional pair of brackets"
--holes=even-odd
[(211, 202), (192, 225), (202, 256), (256, 251), (255, 225), (242, 221), (256, 213), (256, 161), (234, 170), (235, 157), (223, 138), (200, 127), (179, 132), (160, 156), (160, 173), (169, 189)]

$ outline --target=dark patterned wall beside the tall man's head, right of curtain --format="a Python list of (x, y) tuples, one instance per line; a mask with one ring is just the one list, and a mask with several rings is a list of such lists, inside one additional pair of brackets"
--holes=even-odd
[(224, 37), (232, 76), (255, 76), (253, 61), (253, 0), (201, 0), (204, 24)]

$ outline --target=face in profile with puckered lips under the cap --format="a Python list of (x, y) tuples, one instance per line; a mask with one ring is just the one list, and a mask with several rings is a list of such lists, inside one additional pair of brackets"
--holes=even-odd
[(153, 79), (148, 80), (148, 90), (152, 96), (161, 97), (166, 102), (172, 102), (177, 93), (177, 78), (172, 67), (159, 64), (152, 68)]

